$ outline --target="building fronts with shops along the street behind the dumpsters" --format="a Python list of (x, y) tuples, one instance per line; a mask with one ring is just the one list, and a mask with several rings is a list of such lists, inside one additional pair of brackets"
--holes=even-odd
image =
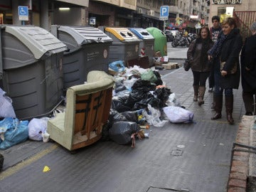
[[(196, 23), (208, 24), (208, 1), (210, 0), (0, 0), (0, 23), (20, 25), (17, 7), (28, 6), (29, 16), (25, 23), (47, 30), (50, 30), (52, 24), (195, 28)], [(166, 22), (160, 19), (161, 6), (169, 6), (169, 18)]]

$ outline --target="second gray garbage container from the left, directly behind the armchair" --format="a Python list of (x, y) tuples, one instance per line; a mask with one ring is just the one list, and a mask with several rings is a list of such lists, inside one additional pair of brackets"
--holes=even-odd
[(108, 71), (112, 38), (90, 26), (52, 26), (51, 33), (68, 46), (63, 57), (63, 85), (66, 90), (87, 81), (91, 70)]

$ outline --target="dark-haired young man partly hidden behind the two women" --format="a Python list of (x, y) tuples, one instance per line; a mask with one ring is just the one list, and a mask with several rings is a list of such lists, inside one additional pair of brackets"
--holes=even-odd
[[(213, 26), (210, 28), (210, 36), (213, 40), (213, 43), (215, 43), (218, 39), (218, 34), (221, 31), (220, 17), (213, 16), (212, 23), (213, 23)], [(213, 87), (215, 86), (215, 78), (214, 78), (215, 73), (218, 73), (216, 75), (220, 76), (220, 62), (218, 60), (213, 60), (212, 68), (210, 68), (210, 75), (208, 78), (208, 82), (209, 82), (208, 92), (213, 92)], [(217, 85), (219, 84), (217, 83)], [(213, 93), (213, 102), (210, 108), (215, 109), (215, 93)]]

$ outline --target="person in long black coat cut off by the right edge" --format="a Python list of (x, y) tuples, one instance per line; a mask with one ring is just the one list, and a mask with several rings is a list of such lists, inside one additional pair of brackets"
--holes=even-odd
[(255, 114), (256, 94), (256, 22), (250, 27), (252, 36), (245, 39), (241, 53), (242, 100), (245, 104), (245, 115)]

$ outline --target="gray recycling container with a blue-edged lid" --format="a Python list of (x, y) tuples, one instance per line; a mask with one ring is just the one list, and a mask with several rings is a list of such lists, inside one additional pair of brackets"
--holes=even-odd
[(139, 43), (140, 56), (149, 57), (149, 67), (153, 66), (154, 58), (154, 37), (146, 31), (145, 28), (129, 28), (139, 39), (142, 41)]

